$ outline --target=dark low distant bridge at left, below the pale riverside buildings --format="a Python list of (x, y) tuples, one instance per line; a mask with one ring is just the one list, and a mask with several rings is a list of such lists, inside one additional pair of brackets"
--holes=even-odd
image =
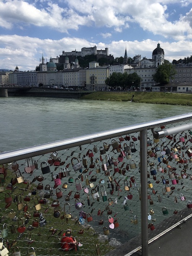
[(30, 96), (30, 97), (56, 97), (56, 98), (76, 98), (93, 93), (92, 91), (66, 91), (64, 89), (39, 88), (39, 87), (12, 87), (0, 88), (0, 97), (8, 96)]

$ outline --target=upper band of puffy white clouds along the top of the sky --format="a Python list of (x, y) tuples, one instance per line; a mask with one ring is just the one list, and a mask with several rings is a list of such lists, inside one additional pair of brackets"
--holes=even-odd
[[(0, 26), (11, 29), (15, 24), (22, 29), (34, 25), (50, 27), (62, 33), (80, 26), (114, 27), (116, 32), (139, 24), (144, 30), (175, 40), (192, 33), (184, 17), (169, 21), (167, 5), (188, 6), (191, 0), (66, 0), (35, 1), (4, 0), (0, 2)], [(40, 6), (37, 4), (40, 3)], [(189, 14), (188, 14), (189, 16)], [(189, 17), (188, 17), (189, 19)]]

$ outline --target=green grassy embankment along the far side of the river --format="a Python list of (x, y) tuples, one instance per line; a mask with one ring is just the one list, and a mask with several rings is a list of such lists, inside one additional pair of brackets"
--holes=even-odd
[(131, 101), (133, 102), (189, 105), (192, 106), (192, 94), (164, 93), (164, 92), (94, 92), (81, 99), (100, 101)]

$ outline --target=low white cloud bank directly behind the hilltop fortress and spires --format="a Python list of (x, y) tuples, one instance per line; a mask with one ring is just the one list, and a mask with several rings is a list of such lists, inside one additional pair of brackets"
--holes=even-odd
[[(109, 44), (103, 42), (95, 44), (81, 38), (66, 37), (60, 40), (40, 40), (18, 35), (0, 36), (0, 41), (2, 45), (0, 48), (0, 68), (14, 70), (18, 66), (21, 71), (34, 70), (40, 63), (42, 53), (44, 58), (49, 61), (51, 56), (55, 58), (61, 55), (62, 51), (71, 52), (75, 49), (80, 51), (82, 47), (93, 47), (94, 45), (97, 45), (98, 49), (108, 47), (109, 54), (112, 54), (114, 58), (124, 56), (125, 49), (127, 49), (127, 55), (130, 57), (141, 54), (142, 57), (152, 58), (152, 51), (158, 43), (153, 40), (119, 40)], [(165, 59), (168, 61), (179, 60), (191, 56), (192, 53), (191, 41), (160, 42), (160, 47), (164, 49)]]

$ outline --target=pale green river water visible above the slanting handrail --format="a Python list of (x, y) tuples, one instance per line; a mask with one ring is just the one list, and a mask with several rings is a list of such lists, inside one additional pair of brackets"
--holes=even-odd
[(192, 112), (191, 106), (66, 98), (0, 98), (0, 151)]

